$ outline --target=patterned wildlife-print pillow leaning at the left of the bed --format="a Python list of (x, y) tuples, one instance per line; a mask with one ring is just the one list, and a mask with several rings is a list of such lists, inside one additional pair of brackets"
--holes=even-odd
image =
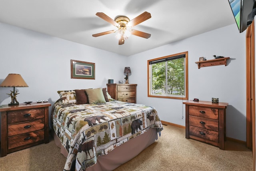
[(57, 91), (57, 93), (60, 95), (60, 102), (62, 105), (76, 103), (76, 91), (66, 90), (66, 91)]

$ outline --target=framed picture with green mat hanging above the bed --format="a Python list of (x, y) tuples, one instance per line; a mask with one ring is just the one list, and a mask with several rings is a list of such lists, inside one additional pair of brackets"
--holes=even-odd
[(95, 80), (95, 63), (71, 60), (71, 78)]

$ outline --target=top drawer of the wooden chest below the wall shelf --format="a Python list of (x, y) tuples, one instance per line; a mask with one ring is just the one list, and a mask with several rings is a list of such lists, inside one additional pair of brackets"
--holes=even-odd
[(205, 117), (209, 119), (218, 119), (219, 110), (216, 108), (210, 107), (201, 107), (201, 106), (189, 106), (189, 115)]

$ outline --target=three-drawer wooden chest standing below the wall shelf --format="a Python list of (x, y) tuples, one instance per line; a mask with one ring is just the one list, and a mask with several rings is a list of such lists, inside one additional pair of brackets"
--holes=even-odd
[(186, 138), (196, 139), (224, 150), (228, 103), (189, 100), (183, 104), (186, 104)]

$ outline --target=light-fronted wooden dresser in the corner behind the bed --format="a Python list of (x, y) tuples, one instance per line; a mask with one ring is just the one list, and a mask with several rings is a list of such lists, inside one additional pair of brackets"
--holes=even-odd
[(107, 84), (108, 93), (113, 99), (136, 103), (137, 84)]

